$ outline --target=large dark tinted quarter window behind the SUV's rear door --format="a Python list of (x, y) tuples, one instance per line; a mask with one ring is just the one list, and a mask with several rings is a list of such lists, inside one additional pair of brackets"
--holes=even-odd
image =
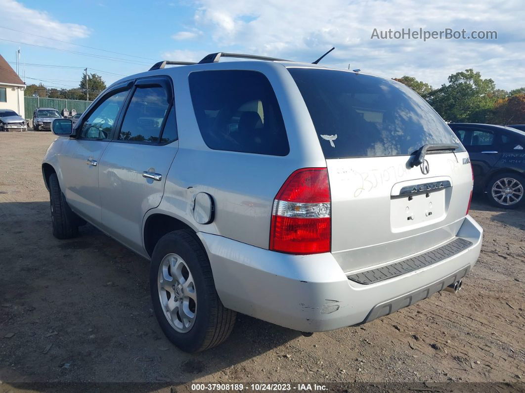
[(214, 150), (285, 156), (285, 124), (268, 79), (256, 71), (190, 74), (193, 109), (204, 142)]

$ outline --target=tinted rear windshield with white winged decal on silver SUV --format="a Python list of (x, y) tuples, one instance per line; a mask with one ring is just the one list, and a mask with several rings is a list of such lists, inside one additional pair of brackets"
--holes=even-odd
[(288, 68), (326, 158), (410, 155), (427, 143), (459, 140), (401, 83), (354, 72)]

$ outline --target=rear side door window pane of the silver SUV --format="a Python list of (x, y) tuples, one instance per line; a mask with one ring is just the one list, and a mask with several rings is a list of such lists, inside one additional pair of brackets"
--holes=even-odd
[(166, 91), (162, 87), (137, 87), (124, 116), (118, 139), (159, 143), (168, 107)]

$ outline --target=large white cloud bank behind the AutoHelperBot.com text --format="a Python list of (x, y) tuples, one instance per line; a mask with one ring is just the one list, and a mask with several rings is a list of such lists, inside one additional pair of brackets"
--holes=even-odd
[[(415, 76), (437, 87), (474, 68), (497, 87), (525, 86), (525, 20), (519, 0), (195, 0), (194, 28), (214, 49), (361, 68), (386, 77)], [(377, 40), (374, 28), (497, 30), (498, 40)], [(208, 46), (209, 46), (208, 40)]]

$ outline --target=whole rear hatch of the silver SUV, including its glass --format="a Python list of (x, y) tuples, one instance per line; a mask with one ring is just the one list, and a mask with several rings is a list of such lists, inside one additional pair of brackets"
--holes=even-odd
[[(388, 79), (289, 71), (326, 158), (332, 253), (343, 270), (406, 258), (453, 239), (470, 200), (470, 161), (425, 100)], [(429, 151), (414, 165), (424, 145)]]

